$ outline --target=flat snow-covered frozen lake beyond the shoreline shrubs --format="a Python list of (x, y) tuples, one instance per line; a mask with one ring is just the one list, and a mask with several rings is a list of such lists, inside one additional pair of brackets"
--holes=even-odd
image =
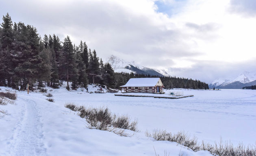
[[(79, 98), (60, 98), (85, 106), (107, 106), (114, 113), (128, 114), (139, 120), (141, 131), (163, 129), (169, 132), (185, 131), (198, 141), (223, 140), (234, 144), (256, 142), (256, 91), (222, 90), (166, 90), (184, 91), (194, 97), (157, 99), (144, 97), (117, 97), (111, 93), (82, 94)], [(56, 93), (54, 93), (56, 94)], [(63, 93), (61, 93), (63, 94)], [(69, 94), (74, 94), (70, 92)], [(80, 95), (80, 94), (79, 94)]]

